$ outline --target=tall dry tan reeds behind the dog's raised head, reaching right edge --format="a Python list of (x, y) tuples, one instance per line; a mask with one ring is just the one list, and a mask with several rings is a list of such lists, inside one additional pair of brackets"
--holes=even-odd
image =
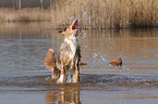
[(78, 18), (81, 28), (158, 26), (158, 0), (54, 0), (52, 23)]

